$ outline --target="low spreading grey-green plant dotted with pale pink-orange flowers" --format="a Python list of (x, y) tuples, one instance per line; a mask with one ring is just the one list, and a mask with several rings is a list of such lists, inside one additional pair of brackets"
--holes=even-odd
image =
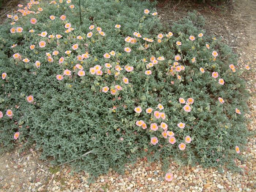
[(238, 169), (248, 94), (236, 55), (203, 18), (163, 27), (154, 3), (81, 3), (82, 25), (74, 0), (30, 1), (7, 15), (1, 149), (35, 142), (42, 158), (92, 176), (137, 157), (161, 159), (166, 171), (170, 157)]

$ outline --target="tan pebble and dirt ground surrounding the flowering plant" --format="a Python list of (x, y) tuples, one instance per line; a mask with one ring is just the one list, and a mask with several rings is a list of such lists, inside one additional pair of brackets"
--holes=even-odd
[[(13, 0), (12, 2), (7, 3), (7, 6), (4, 6), (0, 10), (0, 24), (3, 23), (4, 18), (6, 18), (7, 13), (14, 8), (13, 5), (18, 4), (18, 0)], [(9, 12), (7, 12), (7, 10)], [(201, 4), (192, 3), (192, 1), (173, 1), (166, 0), (160, 1), (158, 3), (158, 14), (162, 18), (163, 22), (166, 25), (171, 24), (174, 20), (178, 20), (187, 15), (188, 11), (197, 10), (201, 15), (206, 19), (205, 29), (212, 35), (216, 37), (222, 37), (227, 44), (229, 44), (234, 52), (239, 56), (238, 66), (244, 68), (247, 64), (251, 67), (251, 70), (243, 75), (243, 78), (247, 81), (247, 89), (251, 94), (251, 99), (248, 101), (249, 108), (251, 112), (247, 114), (249, 118), (252, 118), (252, 123), (248, 125), (248, 129), (255, 131), (256, 126), (256, 99), (255, 99), (255, 67), (256, 67), (256, 0), (236, 0), (232, 4), (219, 5), (217, 7), (203, 6)], [(248, 143), (248, 150), (243, 152), (247, 158), (247, 162), (242, 163), (241, 167), (244, 167), (245, 171), (240, 172), (240, 176), (237, 178), (243, 179), (245, 182), (237, 186), (237, 180), (231, 178), (230, 174), (227, 174), (227, 178), (217, 175), (216, 180), (220, 184), (217, 185), (216, 189), (212, 188), (210, 185), (213, 185), (214, 181), (214, 171), (212, 169), (203, 170), (203, 175), (206, 176), (208, 173), (212, 174), (214, 179), (209, 179), (209, 182), (198, 185), (199, 187), (194, 187), (194, 183), (189, 182), (188, 186), (184, 184), (182, 187), (175, 188), (173, 191), (248, 191), (255, 192), (256, 188), (256, 143), (255, 138), (251, 138)], [(138, 167), (129, 167), (125, 172), (125, 175), (121, 176), (116, 175), (116, 173), (110, 172), (107, 176), (100, 176), (95, 184), (89, 185), (86, 181), (86, 173), (79, 172), (74, 175), (72, 169), (67, 166), (60, 167), (51, 167), (49, 161), (41, 161), (39, 159), (39, 152), (34, 149), (34, 146), (30, 150), (27, 150), (23, 153), (19, 151), (19, 146), (13, 150), (0, 154), (0, 192), (5, 191), (74, 191), (74, 192), (87, 192), (87, 191), (166, 191), (164, 188), (167, 185), (164, 181), (161, 182), (160, 177), (159, 181), (163, 187), (158, 188), (146, 188), (146, 190), (141, 189), (139, 184), (136, 183), (138, 175), (141, 169), (145, 169), (144, 164), (140, 163)], [(146, 166), (146, 165), (145, 165)], [(158, 165), (159, 166), (159, 165)], [(175, 165), (174, 165), (175, 166)], [(173, 166), (173, 167), (174, 167)], [(160, 167), (160, 166), (159, 166)], [(199, 167), (200, 168), (200, 167)], [(198, 169), (199, 169), (198, 168)], [(136, 171), (134, 171), (136, 169)], [(138, 171), (137, 171), (138, 169)], [(149, 171), (148, 174), (157, 175), (160, 174), (157, 165), (154, 163), (150, 166), (146, 166), (147, 169), (156, 170), (155, 172)], [(174, 168), (173, 168), (174, 169)], [(173, 170), (172, 169), (172, 170)], [(187, 169), (187, 168), (185, 168)], [(197, 173), (197, 168), (189, 168), (190, 170), (185, 170), (187, 172)], [(200, 168), (201, 169), (201, 168)], [(181, 172), (182, 169), (178, 170)], [(201, 172), (201, 171), (200, 171)], [(177, 173), (178, 174), (178, 173)], [(111, 176), (111, 178), (110, 178)], [(124, 177), (125, 176), (125, 177)], [(138, 177), (137, 177), (138, 176)], [(145, 175), (144, 175), (145, 176)], [(177, 176), (177, 175), (176, 175)], [(181, 177), (180, 176), (180, 177)], [(195, 176), (193, 179), (200, 179), (204, 176)], [(118, 181), (118, 187), (114, 186), (112, 178), (115, 178)], [(183, 176), (179, 180), (183, 179)], [(199, 178), (198, 178), (199, 177)], [(133, 178), (135, 178), (135, 184), (133, 184)], [(137, 178), (137, 179), (136, 179)], [(140, 177), (139, 177), (140, 178)], [(149, 177), (147, 177), (148, 182)], [(151, 177), (150, 177), (151, 178)], [(119, 185), (119, 182), (128, 180), (131, 184), (128, 185), (124, 190), (122, 185)], [(152, 179), (153, 180), (153, 179)], [(102, 182), (103, 181), (103, 182)], [(138, 180), (137, 180), (138, 181)], [(223, 181), (223, 183), (222, 183)], [(226, 182), (227, 181), (227, 182)], [(231, 182), (232, 181), (232, 182)], [(248, 182), (247, 182), (248, 181)], [(252, 182), (251, 182), (252, 181)], [(232, 185), (229, 185), (229, 182)], [(233, 184), (234, 182), (234, 184)], [(240, 182), (240, 181), (239, 181)], [(177, 182), (179, 183), (179, 182)], [(176, 184), (177, 184), (176, 183)], [(227, 187), (231, 186), (230, 188)], [(112, 186), (113, 185), (113, 186)], [(143, 184), (144, 185), (144, 184)], [(148, 184), (149, 185), (149, 184)], [(177, 184), (179, 185), (179, 184)], [(209, 185), (209, 186), (208, 186)], [(234, 185), (234, 187), (232, 187)], [(224, 188), (220, 186), (226, 186)], [(192, 188), (192, 189), (191, 189)], [(241, 188), (241, 189), (240, 189)], [(95, 190), (94, 190), (95, 189)], [(158, 189), (158, 190), (156, 190)], [(166, 189), (166, 190), (165, 190)], [(177, 189), (177, 190), (176, 190)], [(209, 190), (208, 190), (209, 189)], [(239, 189), (239, 190), (238, 190)]]

